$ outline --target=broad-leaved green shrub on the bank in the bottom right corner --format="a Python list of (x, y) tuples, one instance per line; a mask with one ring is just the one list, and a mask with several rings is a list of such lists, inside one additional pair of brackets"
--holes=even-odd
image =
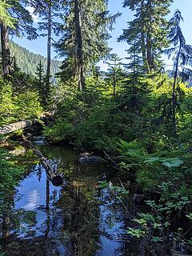
[[(150, 206), (150, 213), (138, 214), (137, 218), (132, 220), (136, 224), (134, 227), (129, 227), (127, 233), (136, 238), (147, 237), (147, 246), (152, 247), (155, 243), (154, 253), (158, 251), (163, 254), (166, 246), (170, 243), (168, 236), (170, 229), (173, 228), (172, 219), (179, 218), (181, 214), (182, 218), (186, 216), (191, 219), (191, 214), (187, 214), (190, 199), (187, 196), (182, 196), (171, 182), (162, 182), (158, 188), (160, 190), (159, 201), (146, 201)], [(178, 225), (177, 230), (174, 229), (172, 235), (175, 242), (179, 242), (182, 238), (182, 243), (186, 243), (182, 234), (182, 224)]]

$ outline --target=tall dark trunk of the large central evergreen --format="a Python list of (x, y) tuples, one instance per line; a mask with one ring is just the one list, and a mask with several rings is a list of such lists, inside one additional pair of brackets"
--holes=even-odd
[(76, 28), (76, 44), (77, 44), (77, 64), (78, 64), (78, 90), (86, 89), (84, 62), (82, 54), (82, 22), (81, 10), (78, 0), (74, 4), (75, 28)]

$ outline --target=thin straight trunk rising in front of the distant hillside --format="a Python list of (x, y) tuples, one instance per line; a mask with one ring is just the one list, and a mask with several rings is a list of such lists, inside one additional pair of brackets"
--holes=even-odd
[(48, 2), (48, 36), (47, 36), (47, 65), (46, 65), (46, 97), (48, 96), (50, 92), (50, 50), (51, 50), (51, 30), (52, 30), (52, 24), (51, 24), (51, 1)]

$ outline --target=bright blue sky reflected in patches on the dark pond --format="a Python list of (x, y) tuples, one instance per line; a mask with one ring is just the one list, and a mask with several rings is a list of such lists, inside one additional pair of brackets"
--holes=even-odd
[[(55, 158), (51, 162), (54, 163), (54, 166), (57, 167), (57, 159)], [(63, 159), (59, 159), (59, 163), (63, 161)], [(69, 161), (70, 162), (70, 161)], [(41, 182), (39, 182), (39, 167), (41, 167)], [(102, 166), (100, 167), (102, 168)], [(27, 178), (25, 178), (18, 186), (18, 195), (21, 195), (19, 200), (15, 200), (15, 209), (23, 209), (26, 211), (34, 211), (36, 214), (36, 223), (34, 226), (29, 226), (24, 222), (21, 223), (20, 232), (18, 234), (19, 238), (25, 238), (29, 231), (34, 231), (34, 236), (45, 235), (45, 226), (47, 221), (47, 213), (46, 213), (46, 171), (42, 168), (42, 166), (36, 166), (33, 171)], [(85, 166), (83, 171), (81, 172), (82, 178), (87, 180), (87, 182), (95, 182), (96, 176), (94, 174), (94, 170), (99, 170), (97, 166)], [(50, 182), (50, 223), (54, 226), (62, 227), (62, 214), (59, 214), (59, 210), (56, 206), (53, 206), (53, 194), (57, 194), (56, 198), (58, 199), (60, 187), (54, 187)], [(103, 191), (104, 194), (107, 194), (107, 191)], [(69, 195), (70, 196), (70, 195)], [(108, 201), (109, 200), (109, 201)], [(122, 223), (118, 222), (115, 219), (115, 213), (110, 209), (110, 199), (104, 200), (105, 205), (99, 206), (100, 208), (100, 224), (99, 229), (105, 230), (107, 235), (100, 235), (100, 244), (102, 245), (101, 250), (95, 255), (102, 256), (112, 256), (117, 255), (116, 251), (121, 246), (121, 242), (118, 239), (119, 231), (121, 230)], [(55, 211), (56, 210), (56, 211)], [(54, 218), (54, 214), (57, 215), (57, 218)], [(56, 216), (55, 215), (55, 216)], [(110, 222), (111, 215), (111, 222)], [(66, 230), (67, 231), (67, 230)], [(59, 255), (70, 255), (63, 252), (65, 251), (65, 245), (62, 244), (62, 240), (59, 242), (59, 237), (61, 236), (63, 239), (63, 235), (66, 236), (65, 240), (70, 243), (70, 234), (68, 234), (65, 230), (61, 230), (60, 228), (53, 228), (49, 230), (49, 237), (51, 237), (54, 242), (57, 244), (58, 250), (61, 252)], [(59, 233), (60, 232), (60, 233)], [(29, 238), (29, 237), (28, 237)], [(69, 240), (68, 240), (69, 239)], [(118, 254), (120, 255), (120, 254)]]

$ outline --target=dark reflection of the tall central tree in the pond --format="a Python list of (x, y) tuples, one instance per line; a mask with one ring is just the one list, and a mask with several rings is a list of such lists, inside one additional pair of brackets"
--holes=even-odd
[[(70, 246), (77, 256), (94, 255), (99, 243), (99, 208), (94, 190), (83, 187), (83, 183), (74, 182), (69, 191), (70, 202), (67, 206), (65, 230), (70, 234)], [(63, 199), (65, 192), (63, 191)], [(69, 199), (70, 199), (69, 198)]]

